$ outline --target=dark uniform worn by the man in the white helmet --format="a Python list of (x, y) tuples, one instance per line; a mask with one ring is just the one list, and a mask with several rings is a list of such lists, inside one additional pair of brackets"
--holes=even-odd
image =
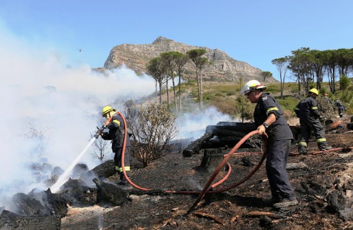
[(268, 182), (273, 198), (294, 201), (296, 200), (294, 190), (286, 172), (293, 135), (278, 102), (268, 93), (262, 93), (254, 111), (255, 124), (260, 126), (271, 113), (276, 116), (276, 121), (266, 129), (268, 134), (266, 160)]

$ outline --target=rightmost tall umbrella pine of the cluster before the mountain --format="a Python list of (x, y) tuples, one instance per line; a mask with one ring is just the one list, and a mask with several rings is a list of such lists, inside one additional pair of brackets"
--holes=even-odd
[(188, 56), (195, 64), (196, 69), (196, 81), (197, 81), (197, 90), (199, 95), (200, 108), (202, 109), (202, 73), (200, 73), (200, 82), (199, 82), (199, 72), (203, 67), (209, 63), (208, 58), (202, 57), (206, 53), (204, 49), (192, 49), (187, 52)]

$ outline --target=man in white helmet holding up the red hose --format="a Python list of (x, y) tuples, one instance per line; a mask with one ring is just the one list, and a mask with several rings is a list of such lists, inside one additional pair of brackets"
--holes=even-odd
[(297, 205), (293, 187), (288, 179), (286, 165), (293, 135), (285, 116), (273, 96), (264, 93), (267, 87), (256, 80), (247, 82), (240, 93), (251, 103), (257, 103), (254, 120), (260, 134), (268, 134), (266, 173), (271, 189), (271, 198), (264, 199), (274, 208)]

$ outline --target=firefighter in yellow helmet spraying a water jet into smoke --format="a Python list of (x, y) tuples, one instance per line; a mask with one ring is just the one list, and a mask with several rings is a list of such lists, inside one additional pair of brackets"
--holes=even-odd
[[(120, 115), (116, 114), (116, 109), (113, 109), (110, 106), (105, 106), (102, 109), (102, 117), (105, 117), (107, 121), (104, 123), (104, 126), (109, 129), (109, 132), (101, 133), (101, 136), (104, 140), (112, 140), (112, 150), (115, 153), (114, 155), (114, 165), (117, 173), (120, 175), (119, 185), (126, 187), (131, 187), (123, 174), (123, 168), (121, 165), (121, 153), (123, 150), (124, 142), (124, 122)], [(112, 117), (112, 120), (108, 122), (108, 119)], [(130, 138), (126, 138), (125, 146), (125, 157), (124, 157), (124, 166), (125, 172), (128, 177), (130, 177)], [(132, 188), (132, 187), (131, 187)]]

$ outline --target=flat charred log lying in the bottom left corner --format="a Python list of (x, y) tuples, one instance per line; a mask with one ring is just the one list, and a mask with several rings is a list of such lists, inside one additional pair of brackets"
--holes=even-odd
[(58, 216), (21, 216), (7, 210), (0, 215), (0, 229), (4, 230), (59, 230), (60, 227), (61, 218)]

